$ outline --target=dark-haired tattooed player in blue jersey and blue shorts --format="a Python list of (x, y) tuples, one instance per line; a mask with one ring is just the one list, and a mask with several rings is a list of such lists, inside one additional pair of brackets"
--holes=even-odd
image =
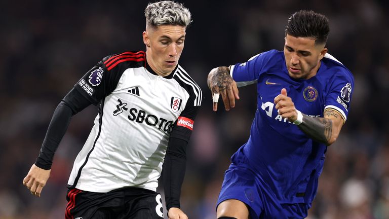
[(284, 51), (260, 53), (208, 75), (213, 108), (235, 106), (238, 87), (257, 84), (248, 141), (231, 157), (217, 218), (304, 218), (318, 189), (327, 147), (346, 121), (354, 77), (327, 53), (328, 18), (299, 11)]

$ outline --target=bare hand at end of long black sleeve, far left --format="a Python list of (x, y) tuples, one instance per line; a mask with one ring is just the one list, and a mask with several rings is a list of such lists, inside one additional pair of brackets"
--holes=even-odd
[(23, 185), (28, 188), (32, 195), (41, 197), (42, 189), (50, 176), (50, 169), (45, 170), (32, 164), (30, 171), (23, 179)]

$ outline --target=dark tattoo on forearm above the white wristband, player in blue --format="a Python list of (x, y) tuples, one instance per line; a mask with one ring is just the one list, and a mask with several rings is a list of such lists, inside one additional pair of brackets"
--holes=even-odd
[[(331, 114), (331, 112), (329, 113)], [(331, 119), (313, 118), (303, 114), (302, 123), (298, 125), (298, 127), (315, 141), (319, 141), (325, 143), (326, 145), (329, 145), (329, 141), (332, 137)]]

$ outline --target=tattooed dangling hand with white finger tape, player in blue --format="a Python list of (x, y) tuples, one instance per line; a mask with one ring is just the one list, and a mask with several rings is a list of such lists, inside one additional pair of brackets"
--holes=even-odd
[[(235, 99), (239, 99), (237, 83), (229, 75), (228, 67), (214, 68), (208, 75), (208, 87), (211, 89), (213, 99), (213, 111), (217, 111), (218, 94), (224, 102), (226, 111), (235, 107)], [(216, 96), (215, 96), (216, 94)], [(215, 97), (215, 99), (213, 98)]]

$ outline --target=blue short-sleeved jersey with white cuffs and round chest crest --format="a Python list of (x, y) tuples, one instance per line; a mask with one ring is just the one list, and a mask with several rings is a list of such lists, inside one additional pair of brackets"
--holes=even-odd
[(294, 80), (289, 77), (283, 51), (277, 50), (232, 65), (230, 74), (238, 86), (256, 83), (258, 93), (250, 138), (231, 161), (248, 160), (249, 168), (267, 184), (265, 187), (274, 192), (280, 203), (311, 203), (327, 147), (278, 115), (274, 98), (286, 88), (301, 113), (323, 117), (325, 109), (331, 108), (346, 121), (354, 88), (353, 75), (327, 54), (316, 76)]

